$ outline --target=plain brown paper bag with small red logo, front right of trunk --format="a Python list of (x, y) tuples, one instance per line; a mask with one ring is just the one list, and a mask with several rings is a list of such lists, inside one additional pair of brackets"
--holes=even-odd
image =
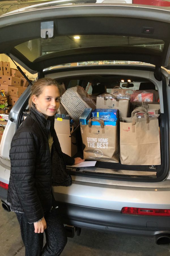
[(158, 118), (149, 117), (145, 108), (132, 111), (120, 121), (120, 161), (127, 165), (161, 164)]

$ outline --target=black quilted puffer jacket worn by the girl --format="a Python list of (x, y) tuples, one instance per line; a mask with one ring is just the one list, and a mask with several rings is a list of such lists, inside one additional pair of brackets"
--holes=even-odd
[[(71, 185), (65, 163), (72, 165), (74, 159), (61, 151), (54, 117), (48, 119), (31, 108), (11, 142), (7, 203), (11, 210), (24, 212), (29, 223), (40, 220), (50, 209), (51, 185)], [(54, 141), (51, 156), (49, 132)]]

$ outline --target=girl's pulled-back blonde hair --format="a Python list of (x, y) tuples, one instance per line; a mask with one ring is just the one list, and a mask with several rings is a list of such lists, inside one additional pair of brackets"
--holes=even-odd
[(40, 78), (36, 82), (34, 82), (33, 85), (31, 86), (31, 94), (28, 101), (29, 108), (32, 108), (33, 106), (35, 106), (35, 104), (32, 101), (32, 96), (35, 95), (36, 97), (39, 97), (39, 95), (42, 93), (43, 88), (45, 86), (50, 86), (50, 85), (55, 85), (59, 89), (59, 93), (61, 95), (60, 88), (56, 80), (48, 77)]

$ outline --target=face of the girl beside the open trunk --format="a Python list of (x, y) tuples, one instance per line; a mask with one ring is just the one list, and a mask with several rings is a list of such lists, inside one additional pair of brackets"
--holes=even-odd
[(45, 118), (53, 116), (59, 108), (59, 89), (56, 85), (44, 86), (42, 93), (37, 97), (32, 96), (35, 108), (41, 112)]

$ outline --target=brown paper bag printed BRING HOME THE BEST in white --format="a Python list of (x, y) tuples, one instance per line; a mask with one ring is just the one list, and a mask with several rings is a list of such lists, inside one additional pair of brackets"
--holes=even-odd
[(91, 118), (88, 125), (80, 125), (82, 142), (84, 148), (84, 159), (103, 162), (119, 162), (119, 143), (117, 125), (105, 125), (103, 120), (100, 125), (91, 125), (91, 121), (98, 121)]

